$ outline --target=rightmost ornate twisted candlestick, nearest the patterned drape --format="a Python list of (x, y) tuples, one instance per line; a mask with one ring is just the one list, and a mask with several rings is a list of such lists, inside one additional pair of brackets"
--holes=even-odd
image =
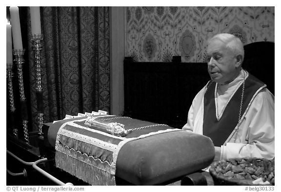
[(41, 86), (41, 50), (42, 50), (42, 34), (31, 34), (32, 36), (32, 49), (35, 55), (35, 68), (36, 68), (36, 96), (37, 96), (37, 111), (38, 111), (38, 125), (39, 133), (42, 134), (43, 126), (43, 95)]

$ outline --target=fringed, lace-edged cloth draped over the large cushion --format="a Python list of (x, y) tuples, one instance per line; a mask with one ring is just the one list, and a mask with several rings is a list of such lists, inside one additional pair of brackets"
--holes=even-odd
[(121, 123), (125, 129), (135, 131), (126, 137), (115, 136), (85, 126), (85, 117), (62, 124), (56, 138), (56, 166), (91, 185), (116, 184), (116, 162), (126, 143), (161, 133), (183, 131), (131, 118), (111, 115), (98, 118), (102, 122)]

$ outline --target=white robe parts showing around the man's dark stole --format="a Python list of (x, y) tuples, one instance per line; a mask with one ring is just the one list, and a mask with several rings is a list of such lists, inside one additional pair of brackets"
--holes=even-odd
[[(245, 72), (246, 78), (248, 73)], [(243, 69), (239, 76), (227, 85), (216, 84), (215, 105), (216, 116), (221, 118), (224, 108), (234, 95), (236, 90), (243, 83)], [(206, 86), (196, 95), (188, 112), (187, 123), (184, 130), (191, 130), (194, 133), (202, 134), (203, 131), (203, 107)], [(237, 106), (240, 107), (240, 106)], [(237, 120), (238, 122), (238, 120)], [(274, 95), (265, 87), (262, 87), (253, 96), (250, 107), (242, 116), (241, 125), (236, 133), (234, 128), (227, 140), (221, 146), (221, 159), (237, 157), (274, 157)], [(237, 134), (237, 136), (236, 136)], [(236, 142), (235, 137), (237, 137)]]

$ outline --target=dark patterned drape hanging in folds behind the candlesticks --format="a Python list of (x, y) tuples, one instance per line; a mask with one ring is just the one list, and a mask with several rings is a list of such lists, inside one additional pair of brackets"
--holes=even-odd
[[(110, 111), (109, 8), (40, 7), (40, 12), (44, 122)], [(28, 57), (32, 129), (37, 130), (34, 53)]]

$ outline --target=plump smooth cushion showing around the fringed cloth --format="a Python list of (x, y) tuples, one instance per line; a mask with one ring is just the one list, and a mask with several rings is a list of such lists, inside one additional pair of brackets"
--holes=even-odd
[[(55, 147), (60, 126), (72, 120), (62, 120), (50, 126), (48, 139), (52, 146)], [(123, 119), (119, 123), (129, 128), (151, 125), (136, 119)], [(127, 138), (167, 128), (171, 129), (158, 126), (136, 130)], [(214, 145), (208, 137), (181, 129), (163, 132), (127, 142), (118, 153), (115, 176), (134, 185), (159, 185), (209, 166), (214, 156)]]

